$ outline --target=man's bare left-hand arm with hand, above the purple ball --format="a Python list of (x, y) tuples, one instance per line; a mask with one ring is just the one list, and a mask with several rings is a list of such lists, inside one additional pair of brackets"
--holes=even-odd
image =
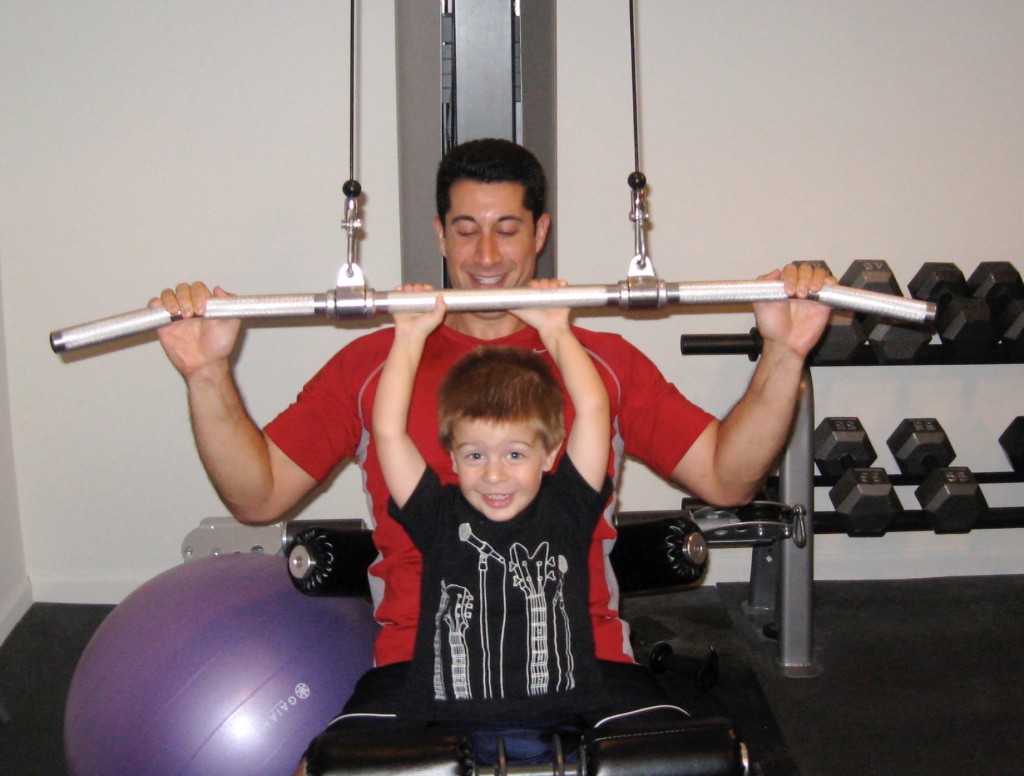
[[(182, 320), (158, 331), (164, 351), (185, 381), (200, 459), (224, 506), (239, 522), (272, 523), (316, 484), (253, 422), (231, 371), (239, 320), (202, 318), (210, 291), (203, 284), (167, 289), (163, 305)], [(226, 293), (216, 289), (214, 296)]]

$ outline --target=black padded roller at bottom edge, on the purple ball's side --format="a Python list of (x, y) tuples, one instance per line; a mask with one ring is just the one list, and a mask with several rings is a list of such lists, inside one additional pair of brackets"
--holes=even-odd
[(306, 753), (309, 776), (473, 776), (469, 737), (446, 728), (336, 730)]

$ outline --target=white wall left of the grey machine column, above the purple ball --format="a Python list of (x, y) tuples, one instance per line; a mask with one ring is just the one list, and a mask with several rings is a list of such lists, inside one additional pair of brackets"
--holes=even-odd
[[(362, 15), (362, 259), (398, 283), (390, 3)], [(61, 358), (51, 330), (208, 278), (324, 292), (345, 258), (348, 4), (4, 2), (4, 313), (26, 558), (37, 600), (112, 601), (224, 514), (159, 345)], [(380, 42), (380, 45), (378, 45)], [(354, 334), (254, 329), (240, 380), (269, 420)], [(358, 477), (310, 512), (359, 511)], [(354, 508), (353, 506), (354, 505)]]

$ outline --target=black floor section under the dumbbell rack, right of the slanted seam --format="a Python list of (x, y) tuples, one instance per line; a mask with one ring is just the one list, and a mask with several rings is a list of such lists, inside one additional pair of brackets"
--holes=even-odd
[[(719, 591), (740, 617), (746, 586)], [(801, 773), (1024, 773), (1024, 576), (819, 581), (814, 612), (814, 679), (737, 626)]]

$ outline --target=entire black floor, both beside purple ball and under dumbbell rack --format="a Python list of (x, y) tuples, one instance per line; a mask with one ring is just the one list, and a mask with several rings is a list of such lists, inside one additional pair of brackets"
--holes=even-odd
[[(745, 591), (632, 597), (624, 612), (678, 654), (715, 646), (714, 688), (664, 681), (735, 721), (755, 774), (1024, 773), (1024, 576), (817, 583), (813, 679), (780, 677), (775, 645), (740, 613)], [(36, 604), (0, 646), (0, 775), (65, 773), (63, 695), (109, 609)]]

